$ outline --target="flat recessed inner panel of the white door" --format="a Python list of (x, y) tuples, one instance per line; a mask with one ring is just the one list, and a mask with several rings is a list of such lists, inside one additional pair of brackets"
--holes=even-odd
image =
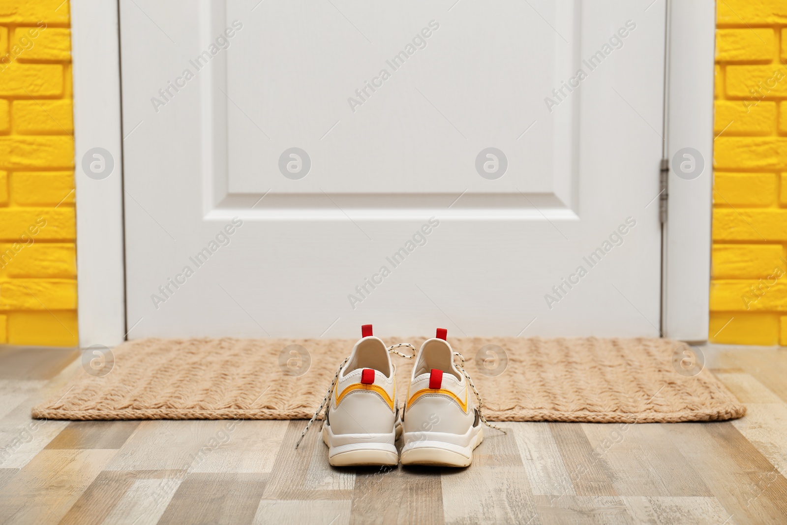
[[(245, 4), (228, 7), (225, 20), (244, 19)], [(539, 7), (571, 37), (573, 2)], [(531, 13), (524, 2), (475, 2), (459, 16), (460, 6), (445, 13), (414, 0), (353, 10), (374, 36), (368, 43), (330, 3), (273, 3), (227, 54), (237, 103), (227, 112), (230, 192), (551, 194), (556, 169), (568, 187), (570, 165), (554, 159), (559, 150), (575, 156), (573, 108), (517, 142), (543, 112), (543, 94), (578, 61), (575, 42)], [(312, 159), (304, 179), (279, 172), (290, 146)], [(475, 171), (488, 146), (506, 153), (511, 170), (496, 183)]]

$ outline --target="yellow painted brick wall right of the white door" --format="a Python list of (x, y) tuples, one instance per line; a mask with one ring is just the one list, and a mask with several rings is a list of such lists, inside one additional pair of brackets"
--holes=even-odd
[(787, 346), (787, 0), (716, 9), (708, 336)]

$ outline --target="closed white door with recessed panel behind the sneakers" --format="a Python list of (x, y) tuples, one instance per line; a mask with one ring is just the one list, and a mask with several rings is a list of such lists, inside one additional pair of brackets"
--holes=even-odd
[(121, 0), (128, 337), (658, 335), (664, 5)]

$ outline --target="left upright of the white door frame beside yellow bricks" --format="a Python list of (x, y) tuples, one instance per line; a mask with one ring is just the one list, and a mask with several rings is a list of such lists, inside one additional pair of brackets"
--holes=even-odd
[[(71, 54), (76, 184), (76, 275), (79, 346), (116, 346), (126, 338), (123, 226), (123, 121), (120, 113), (118, 3), (74, 0)], [(82, 168), (100, 147), (113, 171), (91, 179)], [(81, 277), (81, 278), (80, 278)]]

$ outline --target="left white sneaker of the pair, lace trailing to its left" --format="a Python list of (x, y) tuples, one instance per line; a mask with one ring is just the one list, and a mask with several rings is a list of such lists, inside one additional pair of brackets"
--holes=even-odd
[[(371, 324), (361, 327), (361, 335), (336, 372), (323, 400), (323, 405), (328, 403), (323, 423), (328, 461), (335, 467), (396, 465), (399, 463), (394, 445), (397, 430), (401, 434), (396, 368), (391, 364), (385, 343), (371, 334)], [(309, 421), (301, 439), (323, 405)]]

